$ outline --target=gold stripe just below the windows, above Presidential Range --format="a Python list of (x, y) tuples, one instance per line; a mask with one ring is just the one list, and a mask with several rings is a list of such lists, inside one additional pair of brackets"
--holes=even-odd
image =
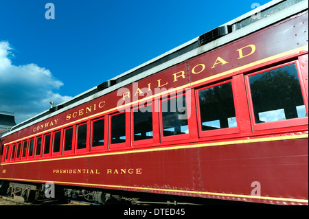
[(189, 149), (189, 148), (205, 148), (205, 147), (213, 147), (213, 146), (229, 146), (229, 145), (243, 144), (243, 143), (283, 141), (283, 140), (306, 139), (306, 138), (308, 138), (308, 134), (264, 137), (264, 138), (258, 138), (258, 139), (242, 139), (242, 140), (236, 140), (236, 141), (220, 141), (220, 142), (201, 143), (201, 144), (194, 144), (194, 145), (172, 146), (172, 147), (165, 147), (165, 148), (152, 148), (152, 149), (139, 149), (139, 150), (130, 149), (128, 151), (123, 151), (123, 152), (106, 152), (105, 151), (103, 154), (102, 153), (101, 154), (87, 154), (87, 155), (80, 155), (80, 156), (74, 156), (74, 157), (60, 157), (60, 158), (54, 158), (54, 159), (49, 158), (49, 159), (21, 161), (21, 162), (16, 161), (15, 163), (1, 163), (1, 165), (12, 165), (12, 164), (20, 164), (20, 163), (36, 163), (36, 162), (43, 162), (43, 161), (59, 161), (59, 160), (67, 160), (67, 159), (79, 159), (79, 158), (85, 158), (85, 157), (104, 157), (104, 156), (119, 155), (119, 154), (158, 152), (158, 151), (164, 151), (164, 150), (180, 150), (180, 149)]

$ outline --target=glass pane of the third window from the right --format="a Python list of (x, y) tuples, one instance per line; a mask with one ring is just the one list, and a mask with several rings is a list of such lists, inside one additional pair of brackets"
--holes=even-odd
[(189, 133), (185, 95), (162, 101), (163, 136)]

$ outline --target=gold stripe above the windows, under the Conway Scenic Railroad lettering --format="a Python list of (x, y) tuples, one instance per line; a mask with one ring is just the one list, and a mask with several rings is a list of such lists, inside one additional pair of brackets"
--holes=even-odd
[[(282, 58), (282, 57), (284, 57), (284, 56), (288, 56), (288, 55), (290, 55), (290, 54), (295, 54), (295, 53), (297, 53), (297, 52), (304, 51), (304, 50), (308, 50), (308, 45), (305, 45), (305, 46), (303, 46), (303, 47), (299, 47), (299, 48), (297, 48), (297, 49), (292, 49), (292, 50), (290, 50), (290, 51), (286, 51), (286, 52), (284, 52), (284, 53), (282, 53), (282, 54), (277, 54), (277, 55), (275, 55), (275, 56), (271, 56), (271, 57), (268, 57), (268, 58), (264, 58), (264, 59), (262, 59), (262, 60), (258, 60), (258, 61), (255, 61), (255, 62), (251, 62), (251, 63), (249, 63), (249, 64), (247, 64), (247, 65), (243, 65), (243, 66), (241, 66), (241, 67), (237, 67), (237, 68), (231, 69), (231, 70), (229, 70), (229, 71), (225, 71), (225, 72), (222, 72), (222, 73), (218, 73), (218, 74), (216, 74), (216, 75), (214, 75), (214, 76), (210, 76), (210, 77), (208, 77), (208, 78), (203, 78), (203, 79), (198, 80), (198, 81), (196, 81), (196, 82), (192, 82), (192, 83), (189, 83), (189, 84), (185, 84), (185, 85), (183, 85), (183, 86), (181, 86), (181, 87), (177, 87), (177, 88), (175, 88), (175, 89), (171, 89), (171, 90), (168, 90), (168, 91), (164, 91), (164, 92), (162, 92), (162, 93), (158, 93), (158, 94), (152, 95), (152, 96), (150, 96), (150, 97), (145, 97), (144, 99), (137, 100), (137, 101), (135, 101), (135, 102), (130, 102), (129, 104), (124, 104), (121, 108), (126, 108), (126, 107), (128, 107), (128, 106), (133, 105), (133, 104), (138, 104), (139, 102), (144, 102), (144, 101), (150, 100), (150, 99), (152, 99), (152, 98), (159, 97), (160, 95), (165, 95), (165, 94), (170, 93), (170, 92), (172, 92), (172, 91), (177, 91), (177, 90), (179, 90), (179, 89), (185, 89), (185, 88), (187, 88), (187, 87), (194, 86), (194, 85), (200, 84), (200, 83), (202, 83), (202, 82), (207, 82), (208, 80), (212, 80), (212, 79), (215, 79), (215, 78), (220, 78), (220, 77), (226, 76), (226, 75), (228, 75), (228, 74), (230, 74), (230, 73), (233, 73), (233, 72), (236, 72), (236, 71), (241, 71), (241, 70), (243, 70), (243, 69), (247, 69), (247, 68), (253, 67), (253, 66), (255, 66), (255, 65), (260, 65), (260, 64), (262, 64), (262, 63), (264, 63), (264, 62), (268, 62), (268, 61), (271, 61), (271, 60), (275, 60), (275, 59), (277, 59), (277, 58)], [(18, 139), (18, 140), (15, 140), (15, 141), (11, 141), (11, 142), (9, 142), (9, 143), (5, 143), (5, 146), (7, 146), (8, 144), (11, 144), (11, 143), (16, 143), (16, 142), (18, 142), (18, 141), (23, 141), (24, 139), (32, 138), (32, 137), (34, 137), (34, 136), (36, 136), (36, 135), (44, 135), (44, 134), (47, 133), (47, 132), (52, 132), (52, 131), (54, 131), (54, 130), (58, 130), (58, 129), (60, 129), (60, 128), (63, 128), (63, 127), (65, 127), (65, 126), (70, 126), (70, 125), (72, 125), (72, 124), (77, 124), (77, 123), (79, 123), (79, 122), (84, 122), (84, 121), (87, 121), (88, 119), (91, 119), (91, 118), (93, 118), (93, 117), (97, 117), (97, 116), (100, 116), (100, 115), (104, 115), (104, 114), (110, 113), (110, 112), (112, 112), (112, 111), (115, 111), (115, 110), (117, 110), (117, 109), (120, 109), (120, 108), (118, 108), (118, 107), (111, 108), (111, 109), (109, 109), (109, 110), (107, 110), (107, 111), (103, 111), (103, 112), (101, 112), (101, 113), (97, 113), (97, 114), (91, 115), (91, 116), (89, 116), (89, 117), (85, 117), (85, 118), (82, 118), (82, 119), (78, 119), (78, 120), (76, 120), (76, 121), (74, 121), (74, 122), (69, 122), (69, 123), (67, 123), (67, 124), (63, 124), (62, 126), (58, 126), (58, 127), (56, 127), (56, 128), (49, 129), (49, 130), (47, 130), (47, 131), (45, 131), (45, 132), (43, 131), (43, 132), (40, 132), (40, 133), (36, 133), (36, 134), (34, 134), (34, 135), (30, 135), (30, 136), (28, 136), (28, 137), (24, 137), (24, 138), (22, 138), (22, 139)]]

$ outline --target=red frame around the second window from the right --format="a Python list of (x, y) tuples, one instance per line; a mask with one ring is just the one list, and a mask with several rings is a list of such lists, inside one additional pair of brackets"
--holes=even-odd
[[(198, 95), (198, 92), (203, 91), (205, 89), (209, 89), (211, 87), (217, 87), (217, 86), (222, 85), (222, 84), (227, 84), (227, 83), (231, 83), (231, 87), (232, 87), (232, 95), (233, 95), (234, 110), (235, 110), (235, 115), (236, 115), (237, 126), (231, 127), (231, 128), (219, 128), (219, 129), (216, 129), (216, 130), (202, 130), (200, 97)], [(204, 87), (200, 87), (200, 88), (196, 89), (196, 113), (197, 113), (197, 120), (198, 120), (198, 133), (199, 133), (200, 137), (211, 137), (211, 136), (216, 136), (216, 135), (229, 135), (229, 134), (236, 134), (236, 133), (240, 132), (240, 122), (239, 122), (240, 115), (239, 115), (238, 111), (236, 110), (237, 109), (237, 107), (236, 107), (237, 100), (236, 100), (235, 93), (236, 93), (236, 86), (234, 85), (233, 78), (228, 79), (228, 80), (224, 80), (222, 82), (218, 82), (218, 83), (215, 83), (215, 84), (205, 85)]]

